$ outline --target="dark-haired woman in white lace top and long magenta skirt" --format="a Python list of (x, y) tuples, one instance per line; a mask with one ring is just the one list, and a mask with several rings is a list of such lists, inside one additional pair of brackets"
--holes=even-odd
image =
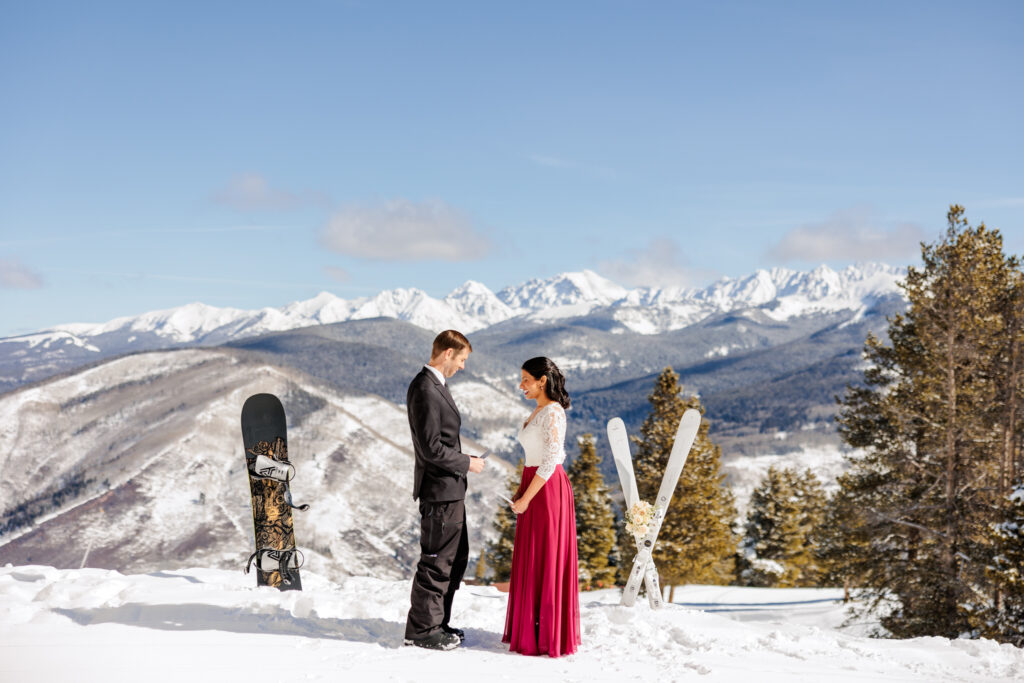
[(519, 490), (512, 577), (502, 642), (523, 654), (556, 657), (580, 645), (575, 512), (565, 460), (565, 378), (549, 358), (522, 365), (519, 383), (537, 408), (519, 430), (526, 455)]

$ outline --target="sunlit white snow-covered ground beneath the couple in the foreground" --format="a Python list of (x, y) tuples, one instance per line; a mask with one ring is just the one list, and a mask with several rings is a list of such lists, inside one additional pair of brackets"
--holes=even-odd
[(581, 596), (583, 646), (510, 654), (503, 594), (464, 586), (454, 652), (402, 647), (409, 582), (303, 573), (256, 589), (217, 569), (125, 575), (0, 568), (0, 680), (20, 681), (1020, 681), (1024, 650), (991, 641), (871, 639), (842, 628), (838, 591), (677, 589), (662, 611)]

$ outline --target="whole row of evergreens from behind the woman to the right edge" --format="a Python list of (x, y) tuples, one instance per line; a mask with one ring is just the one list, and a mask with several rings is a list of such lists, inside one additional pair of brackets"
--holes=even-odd
[[(839, 433), (854, 454), (838, 488), (826, 495), (814, 472), (773, 467), (737, 521), (705, 421), (655, 546), (663, 585), (842, 586), (878, 617), (880, 635), (1024, 645), (1021, 261), (954, 205), (902, 288), (906, 310), (888, 318), (885, 340), (868, 335), (862, 381), (837, 397)], [(632, 440), (640, 498), (652, 501), (680, 417), (703, 407), (672, 368), (648, 400)], [(578, 447), (567, 473), (581, 584), (623, 585), (635, 544), (593, 436)], [(496, 526), (477, 573), (501, 581), (515, 532), (507, 507)]]

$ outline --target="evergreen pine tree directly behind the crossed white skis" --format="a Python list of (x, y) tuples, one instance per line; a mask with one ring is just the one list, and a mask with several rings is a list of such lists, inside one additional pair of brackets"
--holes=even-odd
[[(693, 408), (703, 414), (699, 399), (684, 398), (681, 392), (679, 375), (666, 368), (648, 397), (651, 412), (640, 428), (641, 436), (634, 438), (640, 500), (653, 502), (657, 497), (683, 413)], [(709, 438), (708, 427), (701, 422), (654, 546), (654, 562), (666, 586), (726, 584), (733, 574), (735, 505), (724, 485), (721, 450)], [(630, 566), (635, 550), (632, 540), (623, 549)], [(630, 566), (626, 567), (627, 575)]]

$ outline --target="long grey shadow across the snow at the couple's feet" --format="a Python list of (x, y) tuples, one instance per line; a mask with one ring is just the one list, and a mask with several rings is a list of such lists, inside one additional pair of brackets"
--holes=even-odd
[[(324, 618), (315, 612), (295, 616), (288, 609), (220, 607), (210, 604), (141, 604), (119, 607), (54, 609), (81, 626), (121, 624), (161, 631), (226, 631), (229, 633), (301, 636), (377, 643), (397, 649), (402, 646), (406, 625), (382, 618)], [(466, 629), (465, 647), (502, 651), (501, 635), (481, 629)]]

